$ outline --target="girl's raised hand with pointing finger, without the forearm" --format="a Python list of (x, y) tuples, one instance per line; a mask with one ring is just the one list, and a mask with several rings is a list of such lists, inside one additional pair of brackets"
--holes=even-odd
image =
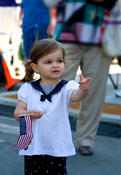
[(80, 74), (79, 88), (82, 90), (82, 93), (87, 94), (90, 86), (90, 77), (84, 78), (82, 74)]

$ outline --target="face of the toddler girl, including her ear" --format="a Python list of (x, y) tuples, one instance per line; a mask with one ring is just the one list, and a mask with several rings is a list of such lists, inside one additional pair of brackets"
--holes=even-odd
[(64, 74), (65, 71), (62, 51), (58, 49), (57, 51), (41, 57), (35, 67), (36, 72), (40, 74), (42, 82), (58, 82), (59, 78)]

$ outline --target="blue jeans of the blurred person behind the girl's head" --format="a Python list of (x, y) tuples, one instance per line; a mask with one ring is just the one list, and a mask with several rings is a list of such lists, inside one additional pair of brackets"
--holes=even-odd
[(39, 24), (35, 27), (23, 29), (24, 58), (29, 59), (30, 49), (36, 40), (46, 39), (48, 24)]

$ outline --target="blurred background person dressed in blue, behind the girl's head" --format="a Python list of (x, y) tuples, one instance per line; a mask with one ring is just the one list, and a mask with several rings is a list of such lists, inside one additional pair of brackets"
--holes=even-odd
[(22, 0), (19, 23), (22, 21), (24, 58), (29, 58), (29, 51), (35, 40), (48, 38), (50, 12), (43, 0)]

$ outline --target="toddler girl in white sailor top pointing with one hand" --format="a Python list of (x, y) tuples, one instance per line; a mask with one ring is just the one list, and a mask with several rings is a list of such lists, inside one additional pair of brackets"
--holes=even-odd
[[(80, 82), (60, 80), (65, 70), (65, 50), (53, 39), (36, 41), (26, 63), (26, 83), (18, 91), (14, 116), (32, 118), (33, 139), (25, 150), (25, 175), (67, 175), (66, 157), (75, 154), (69, 123), (69, 105), (88, 94), (90, 78)], [(34, 73), (40, 79), (34, 81)]]

